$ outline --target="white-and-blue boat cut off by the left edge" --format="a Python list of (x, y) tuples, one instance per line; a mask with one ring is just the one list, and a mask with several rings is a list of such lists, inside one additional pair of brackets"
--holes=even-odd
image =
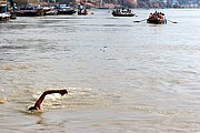
[(0, 1), (0, 21), (10, 20), (11, 13), (8, 11), (7, 1)]

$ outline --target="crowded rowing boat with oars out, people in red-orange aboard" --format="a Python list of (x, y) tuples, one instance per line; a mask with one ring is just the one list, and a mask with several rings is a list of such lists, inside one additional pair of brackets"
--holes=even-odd
[(164, 18), (164, 13), (157, 11), (154, 13), (150, 13), (149, 18), (147, 19), (147, 23), (166, 24), (167, 20)]

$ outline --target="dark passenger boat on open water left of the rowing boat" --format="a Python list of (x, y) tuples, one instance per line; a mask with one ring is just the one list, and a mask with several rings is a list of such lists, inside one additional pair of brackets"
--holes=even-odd
[(136, 14), (130, 9), (116, 9), (112, 10), (113, 17), (134, 17)]

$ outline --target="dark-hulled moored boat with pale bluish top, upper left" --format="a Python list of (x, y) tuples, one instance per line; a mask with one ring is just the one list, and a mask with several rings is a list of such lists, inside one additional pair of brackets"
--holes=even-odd
[(77, 11), (69, 4), (59, 4), (57, 14), (73, 14)]

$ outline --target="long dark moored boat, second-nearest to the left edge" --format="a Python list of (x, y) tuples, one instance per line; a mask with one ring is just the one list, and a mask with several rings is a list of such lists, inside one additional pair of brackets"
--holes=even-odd
[(16, 10), (17, 17), (40, 17), (43, 16), (44, 11), (40, 7), (27, 6)]

